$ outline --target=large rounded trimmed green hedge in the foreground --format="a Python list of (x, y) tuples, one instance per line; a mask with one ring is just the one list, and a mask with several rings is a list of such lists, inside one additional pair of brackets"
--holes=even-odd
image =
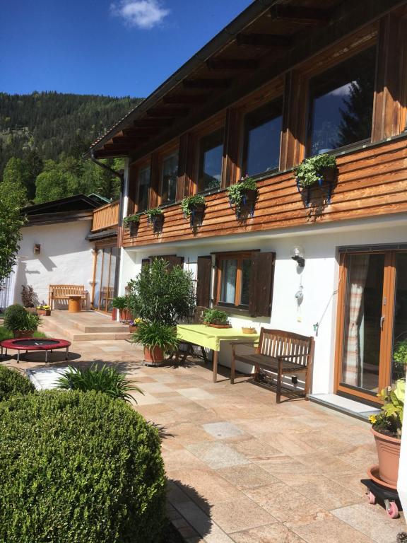
[(100, 392), (45, 391), (0, 405), (0, 542), (158, 543), (158, 431)]

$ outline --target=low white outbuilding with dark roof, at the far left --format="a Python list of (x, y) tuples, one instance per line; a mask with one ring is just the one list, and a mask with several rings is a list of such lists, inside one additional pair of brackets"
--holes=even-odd
[(36, 303), (48, 303), (50, 284), (83, 285), (90, 305), (97, 243), (90, 233), (93, 211), (107, 202), (96, 194), (78, 194), (25, 207), (22, 212), (28, 220), (22, 230), (16, 269), (1, 291), (0, 305), (21, 303), (23, 285), (33, 286)]

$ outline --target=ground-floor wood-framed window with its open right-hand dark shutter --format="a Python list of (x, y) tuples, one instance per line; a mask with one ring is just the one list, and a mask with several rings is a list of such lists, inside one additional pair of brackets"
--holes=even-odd
[(214, 304), (247, 311), (253, 317), (270, 316), (275, 260), (274, 252), (216, 255)]

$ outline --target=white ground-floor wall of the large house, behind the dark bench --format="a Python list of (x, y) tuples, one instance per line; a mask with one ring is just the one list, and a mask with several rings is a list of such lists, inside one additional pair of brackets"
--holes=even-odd
[[(287, 233), (265, 235), (235, 235), (210, 240), (190, 240), (183, 243), (156, 244), (124, 250), (122, 292), (126, 282), (141, 269), (141, 259), (151, 255), (184, 257), (187, 262), (196, 262), (199, 255), (232, 250), (254, 250), (276, 252), (276, 268), (273, 288), (271, 317), (249, 319), (232, 317), (233, 326), (254, 323), (276, 329), (290, 330), (306, 336), (315, 336), (315, 356), (312, 392), (327, 393), (334, 388), (334, 346), (336, 327), (336, 291), (338, 288), (338, 247), (343, 245), (374, 245), (378, 243), (407, 243), (407, 219), (399, 216), (382, 221), (358, 221), (338, 226), (308, 226)], [(301, 244), (305, 248), (305, 267), (300, 271), (290, 258), (290, 248)], [(194, 271), (195, 264), (189, 269)], [(300, 273), (299, 273), (300, 271)], [(303, 302), (297, 307), (295, 293), (303, 286)], [(318, 334), (313, 325), (319, 323)], [(229, 365), (230, 346), (223, 344), (220, 363)], [(247, 369), (247, 368), (245, 368)]]

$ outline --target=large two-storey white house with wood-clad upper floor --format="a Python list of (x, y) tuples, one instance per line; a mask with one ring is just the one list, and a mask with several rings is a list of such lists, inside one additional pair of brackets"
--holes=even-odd
[[(126, 158), (118, 293), (165, 256), (233, 325), (314, 335), (314, 399), (376, 404), (407, 337), (406, 23), (406, 1), (255, 0), (95, 141), (89, 156)], [(293, 168), (319, 153), (336, 181), (299, 192)], [(242, 175), (259, 195), (238, 218)], [(122, 226), (156, 206), (162, 228)]]

